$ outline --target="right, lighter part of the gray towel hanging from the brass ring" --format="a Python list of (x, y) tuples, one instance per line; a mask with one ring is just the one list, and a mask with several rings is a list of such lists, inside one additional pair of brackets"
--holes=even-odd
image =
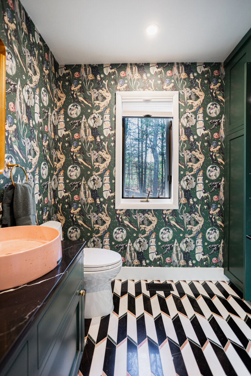
[(30, 183), (15, 183), (14, 215), (17, 226), (36, 224), (36, 201)]

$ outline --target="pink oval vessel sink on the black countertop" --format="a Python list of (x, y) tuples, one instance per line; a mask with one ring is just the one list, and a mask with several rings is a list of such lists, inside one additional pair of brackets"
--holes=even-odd
[(58, 230), (44, 226), (0, 229), (0, 290), (26, 284), (59, 264), (62, 246)]

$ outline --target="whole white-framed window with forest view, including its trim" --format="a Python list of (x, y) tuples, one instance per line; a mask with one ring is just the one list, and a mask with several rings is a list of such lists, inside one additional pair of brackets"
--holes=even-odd
[(117, 92), (116, 209), (177, 209), (178, 157), (178, 92)]

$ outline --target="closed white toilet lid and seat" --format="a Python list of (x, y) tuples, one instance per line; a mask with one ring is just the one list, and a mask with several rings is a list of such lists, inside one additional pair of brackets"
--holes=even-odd
[(103, 248), (84, 248), (84, 269), (116, 267), (122, 258), (119, 253)]

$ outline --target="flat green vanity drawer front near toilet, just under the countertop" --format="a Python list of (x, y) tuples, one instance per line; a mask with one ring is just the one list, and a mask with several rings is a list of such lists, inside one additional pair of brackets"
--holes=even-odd
[[(38, 367), (44, 361), (49, 347), (55, 342), (56, 332), (67, 313), (71, 300), (76, 297), (82, 281), (82, 257), (71, 271), (64, 285), (50, 304), (37, 326), (38, 331)], [(49, 353), (47, 354), (49, 356)]]

